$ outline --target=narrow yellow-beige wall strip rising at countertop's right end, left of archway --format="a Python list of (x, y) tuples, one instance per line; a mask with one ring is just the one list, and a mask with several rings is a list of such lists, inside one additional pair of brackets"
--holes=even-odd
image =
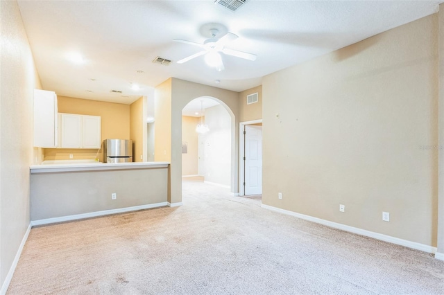
[(171, 83), (155, 87), (154, 161), (171, 161)]

